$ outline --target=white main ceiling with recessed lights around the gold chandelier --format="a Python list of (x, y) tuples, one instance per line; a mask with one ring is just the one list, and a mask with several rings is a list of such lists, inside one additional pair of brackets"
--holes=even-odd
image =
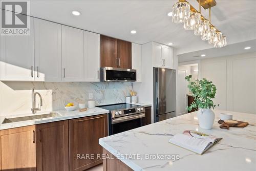
[[(31, 16), (144, 44), (173, 42), (178, 54), (212, 48), (201, 37), (172, 23), (167, 13), (177, 1), (31, 1)], [(196, 0), (188, 2), (198, 9)], [(256, 39), (256, 1), (216, 0), (211, 23), (228, 44)], [(77, 10), (80, 16), (71, 12)], [(208, 11), (202, 8), (208, 18)], [(137, 33), (132, 35), (131, 30)]]

